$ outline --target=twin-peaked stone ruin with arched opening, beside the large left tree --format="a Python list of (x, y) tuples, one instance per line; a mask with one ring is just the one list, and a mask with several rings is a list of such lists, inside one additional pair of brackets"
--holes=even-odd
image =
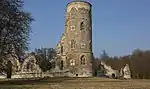
[[(8, 61), (11, 61), (12, 63), (12, 77), (11, 78), (41, 77), (42, 70), (39, 67), (39, 65), (36, 64), (36, 58), (34, 55), (29, 54), (24, 59), (23, 63), (19, 62), (19, 58), (17, 56), (9, 55)], [(7, 74), (6, 73), (2, 73), (2, 74), (3, 75), (0, 75), (0, 78), (6, 78)]]

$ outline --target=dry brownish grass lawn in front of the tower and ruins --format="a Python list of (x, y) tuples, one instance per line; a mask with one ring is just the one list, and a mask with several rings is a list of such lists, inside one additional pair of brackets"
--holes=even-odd
[(39, 78), (0, 80), (0, 89), (150, 89), (150, 80)]

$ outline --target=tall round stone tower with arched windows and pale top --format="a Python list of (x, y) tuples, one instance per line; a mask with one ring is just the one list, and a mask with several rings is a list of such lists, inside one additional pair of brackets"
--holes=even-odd
[(66, 66), (75, 76), (92, 76), (92, 5), (72, 1), (65, 22)]

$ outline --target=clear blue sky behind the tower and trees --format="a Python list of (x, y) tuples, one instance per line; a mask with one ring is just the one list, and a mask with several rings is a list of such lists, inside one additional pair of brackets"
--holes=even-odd
[[(24, 0), (32, 14), (30, 51), (55, 48), (64, 32), (66, 5), (72, 0)], [(93, 53), (123, 56), (150, 49), (150, 0), (85, 0), (92, 4)]]

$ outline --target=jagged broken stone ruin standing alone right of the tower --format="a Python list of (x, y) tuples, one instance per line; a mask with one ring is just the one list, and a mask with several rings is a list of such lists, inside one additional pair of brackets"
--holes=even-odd
[(101, 65), (104, 67), (106, 76), (112, 78), (123, 78), (123, 79), (131, 79), (131, 71), (129, 65), (126, 64), (124, 68), (120, 70), (114, 70), (111, 66), (107, 65), (105, 62), (101, 61)]

